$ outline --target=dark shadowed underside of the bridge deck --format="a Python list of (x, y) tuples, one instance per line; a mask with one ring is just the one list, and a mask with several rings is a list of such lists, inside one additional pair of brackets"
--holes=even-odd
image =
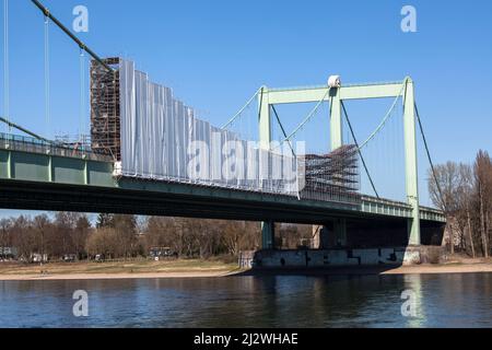
[[(124, 182), (125, 183), (125, 182)], [(128, 180), (126, 186), (137, 187)], [(173, 185), (169, 185), (173, 187)], [(201, 190), (207, 192), (206, 189)], [(192, 217), (226, 220), (320, 223), (330, 218), (374, 218), (377, 215), (350, 210), (351, 206), (311, 208), (281, 200), (241, 200), (230, 196), (159, 192), (120, 187), (93, 187), (70, 184), (0, 179), (0, 207), (19, 210), (108, 212), (143, 215)]]

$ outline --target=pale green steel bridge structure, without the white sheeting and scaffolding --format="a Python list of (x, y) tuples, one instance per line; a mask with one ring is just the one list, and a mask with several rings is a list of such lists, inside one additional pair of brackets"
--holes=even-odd
[[(81, 52), (87, 52), (105, 69), (113, 71), (113, 68), (78, 39), (39, 1), (32, 2), (45, 16), (45, 36), (49, 19), (80, 47)], [(46, 51), (47, 43), (45, 40)], [(49, 71), (45, 72), (45, 75), (48, 77), (48, 73)], [(347, 238), (349, 221), (371, 222), (376, 230), (382, 222), (396, 222), (400, 228), (405, 228), (410, 245), (423, 243), (421, 232), (445, 224), (442, 211), (422, 207), (419, 202), (415, 129), (420, 117), (414, 101), (413, 81), (410, 78), (396, 83), (347, 86), (332, 86), (330, 83), (306, 89), (263, 86), (256, 96), (259, 107), (259, 141), (262, 148), (269, 148), (272, 141), (273, 118), (270, 114), (271, 110), (274, 112), (276, 105), (317, 103), (319, 106), (321, 103), (329, 103), (331, 150), (343, 145), (342, 115), (348, 119), (344, 101), (396, 97), (394, 107), (398, 98), (401, 98), (407, 202), (376, 198), (378, 195), (374, 185), (376, 197), (362, 196), (360, 202), (340, 202), (204, 186), (190, 182), (125, 177), (118, 172), (115, 159), (85, 149), (62, 147), (38, 137), (11, 122), (7, 110), (5, 118), (0, 118), (0, 121), (32, 137), (0, 135), (0, 208), (261, 221), (263, 248), (273, 247), (274, 222), (321, 225), (331, 223), (340, 241)], [(358, 145), (359, 149), (378, 133), (389, 113), (370, 138)], [(285, 135), (285, 141), (290, 141), (309, 118), (311, 115), (292, 135)], [(420, 127), (423, 133), (422, 126)]]

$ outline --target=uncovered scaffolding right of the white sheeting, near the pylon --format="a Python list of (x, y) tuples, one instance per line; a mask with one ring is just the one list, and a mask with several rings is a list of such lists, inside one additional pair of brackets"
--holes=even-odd
[(361, 201), (359, 151), (345, 144), (329, 154), (306, 154), (305, 185), (301, 198), (359, 203)]

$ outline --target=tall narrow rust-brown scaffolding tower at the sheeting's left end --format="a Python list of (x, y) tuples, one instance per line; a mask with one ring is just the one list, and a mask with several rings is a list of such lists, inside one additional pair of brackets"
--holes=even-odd
[(114, 70), (91, 61), (91, 145), (93, 152), (120, 161), (120, 59), (106, 58), (103, 62)]

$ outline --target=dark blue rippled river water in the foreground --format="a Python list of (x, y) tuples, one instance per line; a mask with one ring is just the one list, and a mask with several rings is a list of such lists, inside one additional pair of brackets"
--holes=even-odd
[[(73, 315), (77, 290), (87, 317)], [(492, 273), (0, 281), (0, 315), (36, 328), (492, 327)]]

